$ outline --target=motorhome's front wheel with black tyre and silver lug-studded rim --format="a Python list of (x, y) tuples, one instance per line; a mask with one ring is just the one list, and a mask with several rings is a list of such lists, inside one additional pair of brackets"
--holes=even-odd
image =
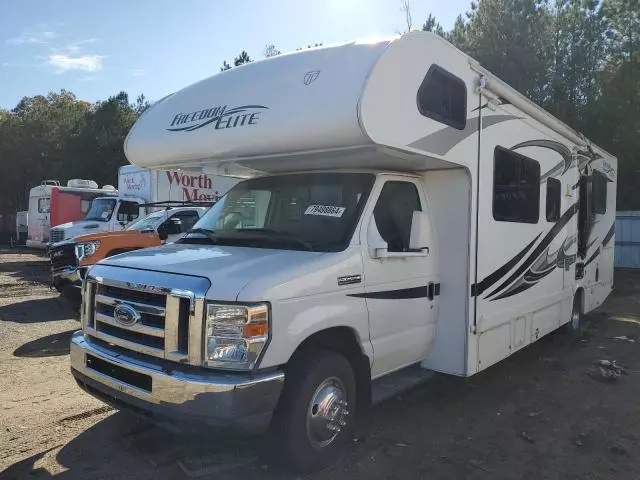
[(310, 350), (292, 360), (271, 427), (270, 450), (280, 463), (310, 471), (344, 452), (354, 430), (355, 385), (339, 353)]

